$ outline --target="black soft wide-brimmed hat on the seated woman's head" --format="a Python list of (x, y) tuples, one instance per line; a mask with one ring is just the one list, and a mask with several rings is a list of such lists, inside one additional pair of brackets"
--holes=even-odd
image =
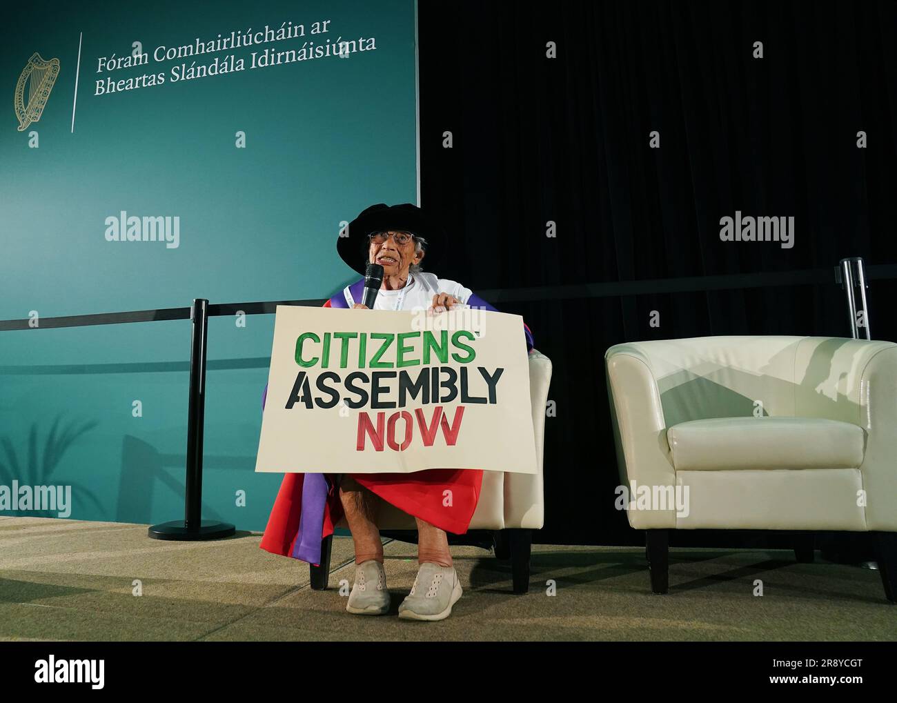
[(424, 251), (427, 255), (424, 261), (427, 265), (433, 262), (431, 245), (438, 244), (441, 239), (439, 226), (428, 221), (417, 205), (411, 203), (371, 205), (349, 222), (348, 236), (336, 238), (336, 252), (340, 258), (361, 275), (364, 275), (364, 268), (368, 264), (370, 242), (368, 235), (378, 230), (405, 230), (416, 237), (426, 239)]

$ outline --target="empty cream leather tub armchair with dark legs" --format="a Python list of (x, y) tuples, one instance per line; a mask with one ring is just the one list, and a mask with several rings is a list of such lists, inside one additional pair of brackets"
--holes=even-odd
[[(876, 533), (897, 597), (897, 344), (700, 337), (617, 344), (607, 388), (629, 524), (667, 590), (667, 530)], [(812, 532), (798, 558), (812, 559)]]

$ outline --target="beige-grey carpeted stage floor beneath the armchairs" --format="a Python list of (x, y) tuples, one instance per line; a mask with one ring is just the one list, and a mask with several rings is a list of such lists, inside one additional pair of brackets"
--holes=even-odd
[(535, 545), (529, 593), (514, 595), (509, 562), (453, 547), (464, 595), (445, 621), (408, 622), (396, 612), (416, 545), (385, 544), (392, 611), (370, 617), (345, 612), (340, 595), (351, 539), (334, 540), (327, 591), (260, 539), (160, 542), (146, 525), (0, 517), (0, 639), (897, 639), (879, 574), (818, 554), (797, 564), (791, 551), (674, 549), (670, 593), (652, 595), (643, 550)]

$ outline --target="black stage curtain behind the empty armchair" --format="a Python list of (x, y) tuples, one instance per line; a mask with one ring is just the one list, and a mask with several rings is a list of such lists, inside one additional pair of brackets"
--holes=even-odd
[[(497, 307), (522, 314), (553, 360), (557, 415), (546, 420), (536, 542), (643, 543), (614, 510), (609, 346), (849, 336), (834, 266), (845, 256), (897, 262), (895, 36), (893, 2), (421, 0), (422, 206), (449, 235), (434, 273), (507, 292)], [(655, 130), (659, 149), (649, 148)], [(794, 247), (720, 241), (719, 218), (736, 210), (794, 216)], [(831, 282), (753, 285), (803, 270), (829, 270)], [(742, 274), (747, 285), (713, 289)], [(699, 282), (704, 290), (625, 296), (578, 287), (703, 276), (722, 278)], [(897, 339), (895, 292), (893, 280), (871, 284), (877, 339)], [(649, 325), (652, 310), (659, 327)]]

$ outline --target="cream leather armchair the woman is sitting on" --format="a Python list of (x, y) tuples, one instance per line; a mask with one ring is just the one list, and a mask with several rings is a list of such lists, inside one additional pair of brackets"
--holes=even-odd
[[(545, 404), (551, 379), (551, 360), (543, 353), (532, 350), (529, 353), (529, 396), (536, 434), (537, 473), (483, 472), (482, 491), (468, 528), (468, 531), (501, 531), (496, 555), (510, 558), (515, 593), (527, 593), (532, 531), (544, 525), (543, 438)], [(348, 528), (345, 516), (335, 526)], [(380, 503), (377, 526), (380, 530), (417, 529), (414, 517), (385, 502)], [(310, 567), (311, 587), (316, 590), (327, 588), (332, 536), (324, 540), (320, 566)]]

